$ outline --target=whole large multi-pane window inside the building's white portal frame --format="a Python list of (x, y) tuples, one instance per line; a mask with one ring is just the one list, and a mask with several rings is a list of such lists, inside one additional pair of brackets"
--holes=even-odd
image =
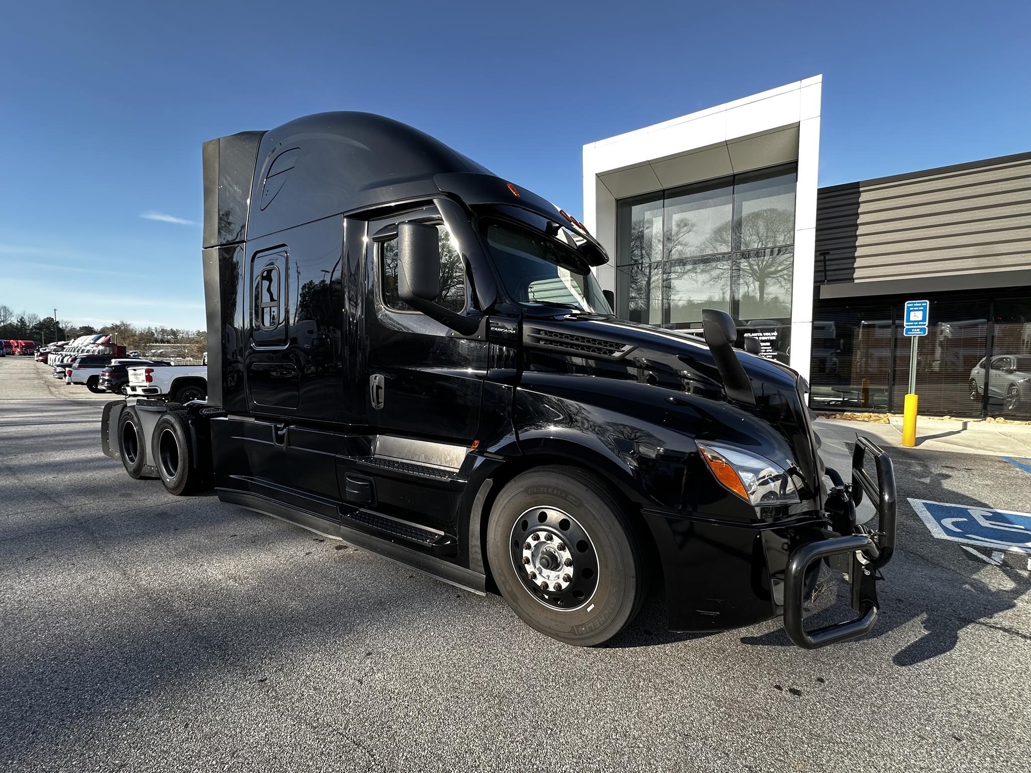
[(787, 361), (795, 182), (793, 166), (776, 167), (621, 201), (617, 312), (690, 328), (723, 309)]

